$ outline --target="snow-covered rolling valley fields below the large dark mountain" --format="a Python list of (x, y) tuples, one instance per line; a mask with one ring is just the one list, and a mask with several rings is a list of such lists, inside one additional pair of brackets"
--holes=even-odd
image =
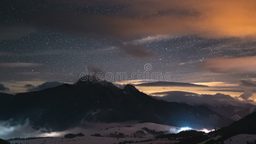
[[(147, 127), (150, 130), (159, 131), (168, 131), (168, 133), (177, 133), (183, 130), (183, 128), (167, 126), (162, 124), (155, 123), (141, 123), (141, 124), (119, 124), (119, 123), (111, 123), (111, 124), (92, 124), (91, 127), (81, 128), (77, 127), (74, 129), (67, 130), (65, 132), (51, 132), (51, 133), (43, 133), (40, 136), (53, 138), (40, 138), (34, 140), (13, 140), (10, 143), (22, 143), (22, 144), (111, 144), (111, 143), (119, 143), (124, 141), (143, 141), (154, 139), (155, 135), (149, 134), (146, 131), (142, 130), (143, 127)], [(142, 135), (143, 138), (134, 138), (133, 133), (137, 131), (143, 131), (145, 134)], [(65, 139), (64, 135), (67, 133), (84, 133), (83, 137), (75, 137), (73, 139)], [(110, 133), (124, 133), (125, 138), (110, 138)], [(92, 134), (99, 133), (103, 137), (95, 137), (91, 136)], [(177, 141), (173, 140), (152, 140), (146, 142), (140, 142), (140, 144), (148, 144), (148, 143), (174, 143)]]

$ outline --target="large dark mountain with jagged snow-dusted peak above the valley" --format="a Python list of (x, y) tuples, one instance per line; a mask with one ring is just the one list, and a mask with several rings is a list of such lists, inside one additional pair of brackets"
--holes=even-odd
[(213, 129), (233, 122), (205, 106), (156, 100), (133, 85), (120, 89), (110, 82), (97, 81), (95, 76), (35, 92), (0, 93), (0, 104), (0, 121), (12, 119), (17, 123), (29, 119), (35, 129), (64, 130), (81, 121), (139, 120), (196, 129)]

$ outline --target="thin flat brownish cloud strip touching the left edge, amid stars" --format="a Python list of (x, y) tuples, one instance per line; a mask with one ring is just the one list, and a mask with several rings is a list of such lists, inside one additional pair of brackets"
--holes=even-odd
[(42, 64), (40, 63), (28, 63), (28, 62), (5, 62), (0, 63), (0, 67), (12, 67), (12, 68), (21, 68), (21, 67), (39, 67)]

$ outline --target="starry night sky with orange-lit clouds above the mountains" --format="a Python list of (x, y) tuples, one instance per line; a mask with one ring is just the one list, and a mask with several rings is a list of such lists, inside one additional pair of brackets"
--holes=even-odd
[(176, 82), (211, 86), (183, 91), (220, 92), (253, 103), (255, 16), (252, 0), (5, 1), (0, 92), (72, 84), (85, 68), (130, 74), (150, 63), (152, 71), (171, 72)]

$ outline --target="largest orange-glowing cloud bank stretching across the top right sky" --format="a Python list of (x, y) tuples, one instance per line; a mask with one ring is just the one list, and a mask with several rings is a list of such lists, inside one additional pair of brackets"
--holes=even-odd
[[(88, 1), (85, 1), (88, 2)], [(105, 1), (101, 1), (104, 4)], [(108, 7), (124, 1), (112, 1)], [(78, 5), (73, 2), (72, 5)], [(96, 5), (96, 4), (95, 4)], [(116, 13), (64, 11), (44, 13), (35, 22), (76, 35), (107, 36), (197, 35), (203, 37), (255, 36), (254, 1), (131, 0)], [(92, 4), (93, 6), (93, 4)], [(48, 20), (48, 19), (51, 20)]]

